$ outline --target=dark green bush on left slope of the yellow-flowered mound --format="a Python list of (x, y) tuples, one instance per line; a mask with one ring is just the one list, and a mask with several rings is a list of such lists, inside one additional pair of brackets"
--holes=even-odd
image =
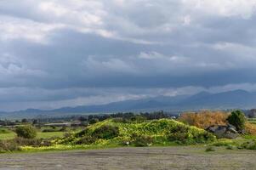
[(110, 125), (103, 125), (98, 127), (92, 133), (92, 136), (98, 139), (113, 139), (117, 137), (119, 134), (119, 128), (110, 126)]

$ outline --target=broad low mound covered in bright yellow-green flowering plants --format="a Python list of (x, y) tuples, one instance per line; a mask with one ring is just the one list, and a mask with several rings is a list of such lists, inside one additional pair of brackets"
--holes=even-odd
[(58, 144), (169, 145), (213, 142), (213, 134), (170, 119), (148, 122), (97, 122), (79, 133), (60, 139)]

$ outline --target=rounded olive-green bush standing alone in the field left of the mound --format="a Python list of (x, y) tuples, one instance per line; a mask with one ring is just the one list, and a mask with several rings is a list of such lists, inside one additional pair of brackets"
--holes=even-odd
[(25, 139), (34, 139), (37, 136), (36, 128), (30, 125), (16, 127), (15, 133), (17, 133), (18, 137)]

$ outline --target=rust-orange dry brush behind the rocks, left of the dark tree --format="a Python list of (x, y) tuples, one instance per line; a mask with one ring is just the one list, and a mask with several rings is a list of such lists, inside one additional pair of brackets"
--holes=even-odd
[(207, 128), (212, 125), (225, 125), (229, 113), (223, 111), (200, 111), (184, 113), (179, 121), (188, 123), (191, 126)]

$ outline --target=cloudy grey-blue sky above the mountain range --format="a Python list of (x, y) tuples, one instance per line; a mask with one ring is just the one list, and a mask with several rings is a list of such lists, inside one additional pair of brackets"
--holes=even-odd
[(256, 0), (0, 0), (0, 111), (256, 91)]

